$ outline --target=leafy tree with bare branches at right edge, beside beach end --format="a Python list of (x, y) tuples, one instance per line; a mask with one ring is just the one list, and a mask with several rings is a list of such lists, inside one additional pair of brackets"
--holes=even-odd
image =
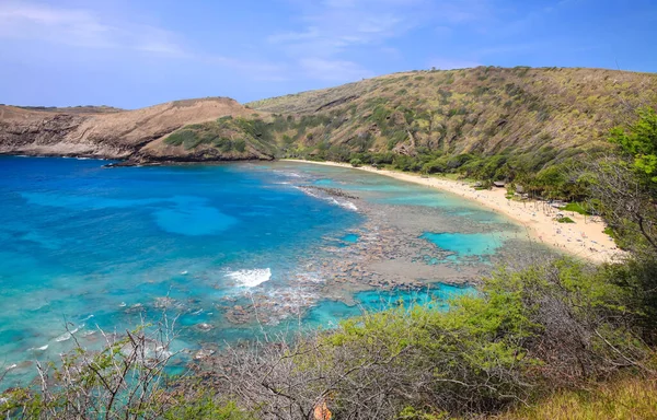
[(583, 178), (620, 246), (631, 252), (616, 265), (615, 281), (630, 291), (638, 308), (644, 339), (657, 342), (657, 114), (610, 132), (618, 154), (590, 159)]

